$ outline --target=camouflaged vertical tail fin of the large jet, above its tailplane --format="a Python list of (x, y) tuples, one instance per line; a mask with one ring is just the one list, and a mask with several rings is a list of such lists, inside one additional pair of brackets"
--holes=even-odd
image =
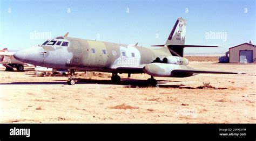
[(173, 26), (173, 29), (166, 40), (165, 45), (184, 45), (186, 35), (186, 20), (183, 18), (178, 18)]

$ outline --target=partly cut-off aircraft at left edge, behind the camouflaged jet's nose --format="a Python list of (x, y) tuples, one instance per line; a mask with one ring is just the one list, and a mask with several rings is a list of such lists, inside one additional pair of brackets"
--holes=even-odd
[(3, 48), (0, 50), (0, 64), (6, 67), (6, 70), (13, 70), (13, 68), (17, 68), (19, 72), (24, 70), (24, 62), (16, 60), (13, 55), (15, 52), (9, 52), (8, 48)]

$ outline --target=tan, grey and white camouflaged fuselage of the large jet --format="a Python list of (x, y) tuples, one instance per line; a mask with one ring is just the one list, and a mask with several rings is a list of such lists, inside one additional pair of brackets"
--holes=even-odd
[(125, 73), (116, 68), (143, 68), (157, 57), (171, 56), (168, 48), (163, 47), (153, 49), (70, 37), (51, 41), (65, 41), (68, 46), (55, 43), (28, 48), (23, 50), (23, 60), (36, 66), (56, 69)]

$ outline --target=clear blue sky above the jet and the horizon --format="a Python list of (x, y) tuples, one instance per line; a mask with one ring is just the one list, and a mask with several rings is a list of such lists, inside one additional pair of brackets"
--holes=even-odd
[[(20, 50), (43, 43), (31, 32), (151, 46), (164, 44), (178, 17), (187, 19), (186, 52), (225, 52), (256, 42), (255, 0), (247, 1), (3, 1), (0, 0), (0, 48)], [(129, 13), (127, 13), (129, 8)], [(70, 13), (68, 12), (70, 9)], [(186, 12), (188, 10), (188, 12)], [(246, 12), (247, 10), (247, 12)], [(226, 33), (206, 39), (207, 32)], [(156, 34), (159, 38), (156, 38)]]

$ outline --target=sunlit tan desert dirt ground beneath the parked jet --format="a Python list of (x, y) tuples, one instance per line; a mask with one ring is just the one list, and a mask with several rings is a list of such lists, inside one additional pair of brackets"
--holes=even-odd
[[(190, 62), (204, 70), (247, 74), (199, 74), (186, 78), (146, 74), (78, 72), (74, 86), (63, 76), (34, 76), (33, 69), (0, 69), (0, 123), (256, 123), (255, 64)], [(210, 82), (210, 83), (209, 83)]]

